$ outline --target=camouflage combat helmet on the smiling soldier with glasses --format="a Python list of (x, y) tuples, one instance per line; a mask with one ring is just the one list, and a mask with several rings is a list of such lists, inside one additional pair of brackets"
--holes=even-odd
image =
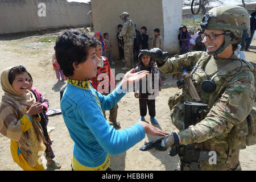
[[(236, 5), (222, 5), (209, 10), (200, 23), (205, 29), (225, 31), (225, 41), (217, 51), (208, 52), (217, 55), (224, 51), (229, 44), (241, 42), (241, 50), (245, 47), (245, 40), (250, 36), (250, 18), (246, 9)], [(232, 38), (230, 40), (230, 38)]]

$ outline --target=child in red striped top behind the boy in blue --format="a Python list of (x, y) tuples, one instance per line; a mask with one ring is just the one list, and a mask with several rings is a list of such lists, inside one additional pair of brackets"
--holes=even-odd
[[(115, 78), (110, 69), (108, 59), (101, 55), (101, 43), (97, 41), (96, 56), (101, 60), (101, 62), (98, 64), (96, 77), (90, 78), (90, 80), (92, 81), (91, 84), (94, 89), (96, 89), (102, 95), (108, 96), (108, 94), (115, 89)], [(114, 126), (120, 125), (120, 123), (117, 121), (117, 109), (118, 105), (116, 104), (112, 109), (109, 110), (109, 121), (112, 122)], [(106, 118), (105, 110), (102, 110), (102, 113)]]

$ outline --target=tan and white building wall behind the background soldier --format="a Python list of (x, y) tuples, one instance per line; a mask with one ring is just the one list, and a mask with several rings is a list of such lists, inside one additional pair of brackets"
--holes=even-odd
[[(147, 32), (154, 36), (154, 29), (160, 29), (160, 35), (164, 37), (164, 42), (171, 39), (177, 39), (178, 29), (181, 25), (181, 1), (176, 0), (91, 0), (93, 11), (94, 31), (100, 31), (102, 34), (108, 32), (110, 42), (112, 43), (113, 55), (118, 57), (118, 44), (117, 44), (117, 25), (123, 24), (119, 18), (124, 11), (130, 14), (132, 19), (137, 25), (137, 30), (141, 31), (142, 26), (147, 27)], [(180, 5), (179, 5), (180, 4)], [(179, 5), (179, 6), (178, 6)], [(166, 20), (164, 20), (164, 18)], [(168, 24), (171, 23), (170, 26)], [(167, 26), (170, 28), (164, 28)], [(177, 28), (177, 29), (176, 29)], [(169, 31), (169, 32), (168, 32)], [(166, 36), (166, 32), (167, 36)], [(152, 47), (152, 40), (148, 41), (150, 48)], [(168, 46), (166, 46), (168, 45)], [(166, 51), (177, 51), (178, 44), (171, 46), (166, 43), (164, 49)]]

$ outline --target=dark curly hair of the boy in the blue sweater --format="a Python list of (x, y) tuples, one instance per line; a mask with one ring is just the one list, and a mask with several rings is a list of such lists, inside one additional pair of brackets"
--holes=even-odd
[(72, 76), (73, 63), (84, 63), (90, 47), (96, 47), (96, 39), (78, 30), (64, 30), (56, 39), (57, 62), (65, 76)]

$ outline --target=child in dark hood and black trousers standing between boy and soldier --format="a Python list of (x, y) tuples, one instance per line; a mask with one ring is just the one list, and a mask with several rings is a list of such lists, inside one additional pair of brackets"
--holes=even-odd
[[(155, 97), (159, 96), (159, 91), (161, 90), (162, 86), (159, 70), (158, 68), (156, 68), (156, 64), (153, 61), (151, 61), (150, 56), (142, 55), (142, 53), (139, 53), (139, 63), (136, 66), (137, 67), (135, 68), (135, 72), (146, 70), (149, 71), (152, 75), (152, 77), (150, 77), (149, 75), (147, 75), (146, 77), (146, 79), (152, 78), (152, 82), (151, 80), (146, 80), (146, 85), (142, 85), (143, 81), (141, 80), (139, 81), (139, 88), (138, 84), (135, 84), (137, 86), (134, 86), (134, 96), (135, 98), (139, 98), (139, 111), (141, 114), (141, 118), (139, 119), (139, 121), (145, 121), (144, 117), (147, 114), (148, 107), (150, 121), (155, 124), (158, 124), (158, 121), (156, 121), (155, 119)], [(159, 78), (158, 85), (155, 85), (155, 76), (157, 76), (156, 74), (158, 74)], [(148, 85), (150, 83), (152, 83), (152, 89)]]

